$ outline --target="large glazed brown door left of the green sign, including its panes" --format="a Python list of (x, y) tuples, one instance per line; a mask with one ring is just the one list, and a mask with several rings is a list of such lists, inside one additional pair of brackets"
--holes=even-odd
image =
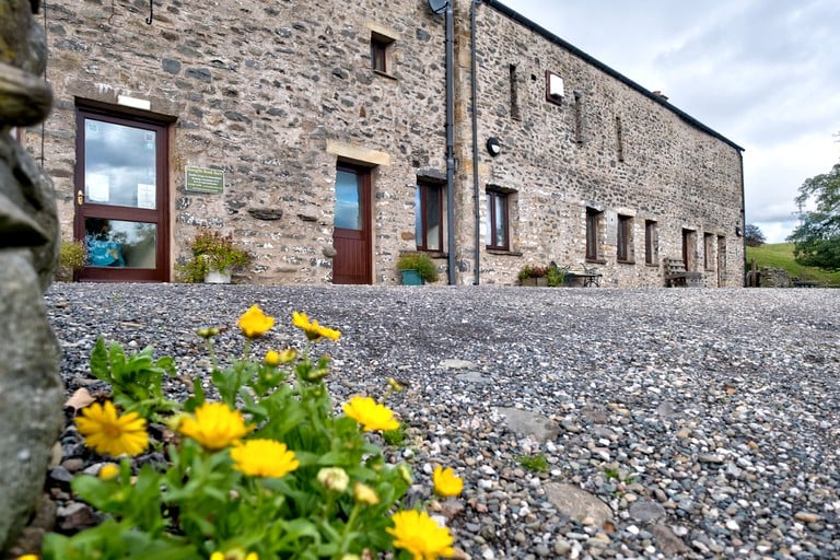
[(166, 125), (98, 109), (77, 113), (75, 279), (168, 280)]

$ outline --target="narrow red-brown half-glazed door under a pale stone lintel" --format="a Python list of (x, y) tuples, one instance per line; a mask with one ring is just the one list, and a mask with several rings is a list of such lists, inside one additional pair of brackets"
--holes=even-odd
[(332, 247), (334, 284), (372, 283), (370, 170), (349, 165), (336, 170)]

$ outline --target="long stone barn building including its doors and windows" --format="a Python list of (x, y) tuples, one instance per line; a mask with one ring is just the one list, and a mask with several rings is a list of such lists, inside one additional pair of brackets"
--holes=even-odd
[[(436, 13), (435, 13), (436, 12)], [(495, 0), (48, 3), (54, 178), (83, 281), (174, 281), (202, 229), (254, 283), (744, 279), (742, 148)]]

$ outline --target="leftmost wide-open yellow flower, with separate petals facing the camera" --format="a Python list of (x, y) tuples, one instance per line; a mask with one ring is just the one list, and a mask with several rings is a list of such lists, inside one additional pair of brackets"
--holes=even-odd
[(149, 445), (145, 419), (137, 412), (117, 416), (117, 409), (110, 401), (104, 405), (94, 402), (84, 408), (82, 416), (75, 419), (75, 425), (88, 446), (96, 453), (114, 457), (138, 455)]

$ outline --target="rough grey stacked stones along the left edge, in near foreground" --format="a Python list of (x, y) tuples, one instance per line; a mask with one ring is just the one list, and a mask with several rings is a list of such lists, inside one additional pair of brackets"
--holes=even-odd
[(52, 183), (10, 135), (39, 122), (51, 94), (39, 78), (36, 0), (0, 0), (0, 552), (25, 526), (60, 433), (59, 347), (44, 291), (58, 259)]

